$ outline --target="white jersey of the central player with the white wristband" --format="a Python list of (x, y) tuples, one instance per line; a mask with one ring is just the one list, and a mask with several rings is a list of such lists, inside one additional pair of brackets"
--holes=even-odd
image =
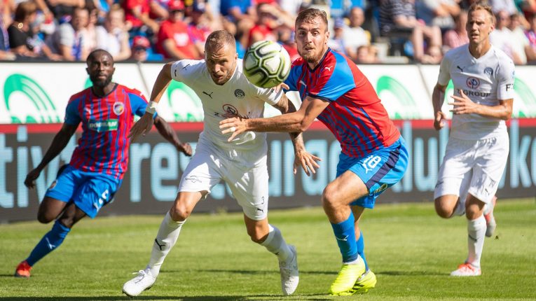
[(233, 113), (242, 118), (262, 118), (264, 103), (277, 104), (282, 90), (257, 87), (249, 83), (242, 73), (242, 59), (238, 59), (233, 76), (224, 85), (217, 85), (207, 70), (205, 60), (182, 59), (174, 62), (171, 76), (198, 94), (204, 112), (202, 139), (208, 139), (225, 150), (266, 150), (266, 133), (245, 132), (233, 141), (227, 139), (231, 134), (221, 134), (219, 122), (224, 114)]

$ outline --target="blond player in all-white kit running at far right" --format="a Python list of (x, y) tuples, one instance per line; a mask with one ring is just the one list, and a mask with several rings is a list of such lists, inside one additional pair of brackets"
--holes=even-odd
[[(484, 237), (495, 229), (493, 207), (509, 151), (504, 120), (514, 102), (514, 63), (490, 44), (495, 28), (490, 6), (469, 8), (469, 44), (446, 53), (434, 87), (434, 127), (444, 127), (441, 111), (448, 80), (454, 84), (453, 119), (434, 191), (442, 218), (467, 217), (467, 260), (451, 276), (479, 276)], [(486, 233), (487, 232), (487, 233)]]

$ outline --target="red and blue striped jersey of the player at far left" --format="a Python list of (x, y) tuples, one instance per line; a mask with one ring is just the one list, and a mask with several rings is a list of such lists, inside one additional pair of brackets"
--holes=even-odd
[(104, 97), (91, 87), (71, 96), (65, 123), (82, 123), (82, 136), (69, 165), (83, 172), (98, 172), (123, 179), (128, 164), (128, 134), (134, 115), (145, 113), (147, 100), (135, 89), (116, 84)]

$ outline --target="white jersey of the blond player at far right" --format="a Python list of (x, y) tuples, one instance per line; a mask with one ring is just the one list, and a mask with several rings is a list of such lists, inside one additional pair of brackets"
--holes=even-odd
[[(485, 55), (476, 59), (466, 44), (446, 53), (437, 82), (447, 85), (452, 79), (456, 96), (462, 90), (476, 104), (497, 106), (500, 100), (514, 98), (514, 76), (514, 62), (502, 50), (492, 45)], [(504, 120), (479, 114), (453, 115), (451, 137), (457, 139), (488, 139), (505, 132)]]

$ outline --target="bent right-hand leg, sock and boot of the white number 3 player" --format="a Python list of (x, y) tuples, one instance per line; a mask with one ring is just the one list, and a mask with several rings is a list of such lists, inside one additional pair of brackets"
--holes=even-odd
[(298, 287), (298, 254), (296, 248), (284, 241), (281, 231), (268, 223), (268, 218), (255, 221), (244, 215), (247, 234), (252, 241), (261, 244), (274, 253), (279, 260), (281, 289), (284, 295), (291, 295)]

